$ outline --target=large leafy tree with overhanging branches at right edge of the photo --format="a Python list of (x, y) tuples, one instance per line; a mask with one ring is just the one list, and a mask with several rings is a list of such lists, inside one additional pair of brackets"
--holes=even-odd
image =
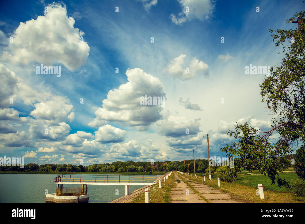
[[(297, 14), (305, 16), (304, 11)], [(293, 17), (286, 22), (292, 20)], [(270, 130), (261, 132), (247, 123), (236, 123), (236, 131), (227, 132), (235, 139), (221, 150), (229, 157), (240, 158), (233, 169), (235, 177), (242, 169), (251, 172), (258, 168), (262, 174), (268, 175), (272, 184), (276, 181), (279, 187), (289, 187), (289, 181), (281, 179), (278, 174), (288, 167), (287, 155), (293, 151), (291, 148), (305, 141), (304, 23), (299, 23), (299, 29), (269, 32), (275, 46), (284, 49), (281, 65), (271, 67), (271, 76), (265, 76), (260, 85), (262, 102), (266, 102), (267, 108), (274, 114), (273, 125)], [(271, 139), (275, 138), (276, 132), (279, 137), (273, 142)]]

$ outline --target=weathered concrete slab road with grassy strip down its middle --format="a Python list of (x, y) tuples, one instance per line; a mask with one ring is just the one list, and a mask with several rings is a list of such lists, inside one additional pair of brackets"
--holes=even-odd
[[(239, 203), (231, 199), (229, 194), (223, 194), (221, 191), (213, 187), (196, 182), (194, 180), (195, 177), (190, 178), (185, 175), (181, 176), (183, 176), (183, 178), (210, 203)], [(196, 194), (187, 184), (184, 183), (180, 177), (180, 174), (176, 172), (174, 172), (174, 183), (175, 187), (172, 188), (171, 192), (173, 198), (172, 203), (206, 203), (205, 200), (199, 197), (198, 194)]]

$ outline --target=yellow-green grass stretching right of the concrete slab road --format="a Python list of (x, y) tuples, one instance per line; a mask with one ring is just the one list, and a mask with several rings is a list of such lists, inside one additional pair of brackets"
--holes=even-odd
[[(238, 180), (233, 183), (220, 182), (220, 187), (217, 186), (217, 177), (209, 180), (206, 177), (206, 181), (203, 177), (197, 176), (190, 179), (195, 180), (199, 183), (209, 185), (217, 190), (224, 193), (230, 194), (230, 196), (240, 202), (245, 203), (305, 203), (305, 197), (295, 197), (290, 190), (285, 187), (278, 187), (277, 184), (271, 185), (271, 180), (264, 175), (251, 175), (249, 172), (242, 172), (242, 176), (238, 176)], [(258, 170), (252, 172), (253, 174), (259, 173)], [(217, 175), (217, 174), (216, 174)], [(295, 180), (297, 176), (294, 172), (285, 172), (279, 175), (281, 178), (288, 180)], [(260, 196), (257, 195), (256, 189), (257, 184), (260, 183), (264, 188), (265, 199), (261, 200)]]

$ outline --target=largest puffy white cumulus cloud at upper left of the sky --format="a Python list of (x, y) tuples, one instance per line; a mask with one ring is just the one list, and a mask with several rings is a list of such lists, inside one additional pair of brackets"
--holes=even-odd
[(69, 70), (77, 69), (86, 62), (90, 48), (80, 41), (84, 32), (75, 28), (74, 23), (73, 17), (67, 16), (66, 6), (48, 5), (44, 16), (20, 23), (2, 60), (9, 59), (17, 65), (62, 63)]

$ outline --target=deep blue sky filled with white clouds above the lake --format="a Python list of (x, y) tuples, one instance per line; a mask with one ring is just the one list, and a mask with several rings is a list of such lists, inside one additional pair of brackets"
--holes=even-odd
[[(258, 87), (264, 74), (246, 75), (245, 66), (281, 62), (268, 29), (295, 29), (285, 20), (302, 7), (302, 1), (1, 2), (0, 156), (89, 165), (182, 160), (195, 149), (196, 158), (207, 158), (206, 133), (210, 155), (224, 156), (219, 150), (235, 121), (270, 128), (273, 115)], [(36, 74), (41, 64), (61, 66), (61, 76)], [(140, 105), (145, 94), (166, 97), (164, 107)]]

